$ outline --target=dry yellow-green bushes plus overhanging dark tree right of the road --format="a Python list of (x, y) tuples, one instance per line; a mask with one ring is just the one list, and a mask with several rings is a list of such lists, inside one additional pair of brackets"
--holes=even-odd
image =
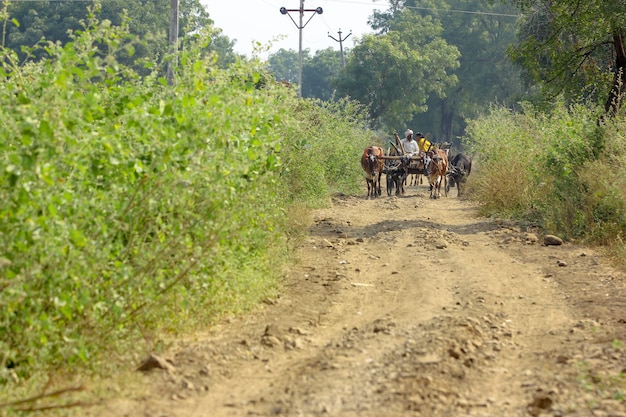
[(624, 4), (517, 7), (507, 55), (521, 71), (526, 102), (467, 121), (474, 195), (485, 214), (608, 248), (626, 267)]

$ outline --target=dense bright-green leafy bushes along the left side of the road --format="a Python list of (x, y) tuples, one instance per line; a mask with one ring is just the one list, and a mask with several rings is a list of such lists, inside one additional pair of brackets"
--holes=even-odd
[(354, 104), (298, 100), (258, 61), (219, 69), (202, 33), (170, 87), (116, 60), (127, 36), (91, 22), (23, 66), (0, 50), (2, 385), (272, 295), (289, 207), (362, 186)]

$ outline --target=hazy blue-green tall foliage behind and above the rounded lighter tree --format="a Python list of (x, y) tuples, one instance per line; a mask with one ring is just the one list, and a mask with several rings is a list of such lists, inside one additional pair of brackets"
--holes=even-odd
[(477, 116), (496, 101), (511, 105), (519, 100), (519, 71), (506, 55), (516, 33), (514, 6), (471, 0), (392, 1), (386, 12), (375, 12), (371, 22), (381, 34), (395, 30), (404, 40), (419, 39), (416, 31), (431, 29), (407, 23), (407, 16), (412, 15), (438, 22), (443, 29), (439, 36), (456, 47), (460, 57), (453, 71), (458, 82), (445, 86), (443, 94), (426, 97), (425, 106), (408, 121), (409, 126), (450, 141), (463, 134), (465, 118)]

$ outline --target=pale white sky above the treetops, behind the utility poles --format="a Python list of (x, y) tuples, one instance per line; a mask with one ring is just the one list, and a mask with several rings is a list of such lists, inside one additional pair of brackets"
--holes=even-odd
[[(206, 6), (215, 26), (222, 29), (224, 35), (231, 40), (236, 40), (234, 49), (237, 53), (251, 57), (253, 42), (260, 42), (266, 46), (271, 42), (270, 52), (276, 52), (280, 48), (296, 52), (299, 50), (300, 0), (201, 0), (201, 2)], [(281, 7), (295, 11), (283, 15), (280, 13)], [(318, 7), (322, 8), (322, 14), (305, 12), (302, 22), (304, 25), (302, 49), (309, 49), (311, 55), (317, 50), (329, 47), (339, 50), (340, 40), (344, 49), (352, 48), (356, 39), (365, 33), (373, 32), (367, 20), (374, 10), (385, 11), (388, 2), (304, 0), (305, 10)], [(283, 40), (274, 40), (281, 35), (284, 37)], [(267, 58), (267, 52), (261, 52), (259, 56)]]

